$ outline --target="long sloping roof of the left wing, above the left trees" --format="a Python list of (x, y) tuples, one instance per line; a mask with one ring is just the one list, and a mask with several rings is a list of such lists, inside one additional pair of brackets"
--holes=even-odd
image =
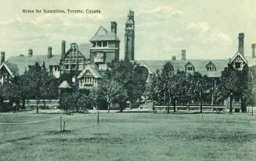
[(29, 66), (33, 66), (34, 63), (38, 62), (40, 65), (45, 63), (46, 69), (49, 69), (49, 66), (59, 66), (59, 60), (61, 55), (52, 55), (51, 58), (48, 58), (48, 55), (32, 55), (32, 56), (12, 56), (10, 57), (6, 63), (15, 64), (18, 70), (18, 74), (22, 75), (25, 70), (28, 70)]

